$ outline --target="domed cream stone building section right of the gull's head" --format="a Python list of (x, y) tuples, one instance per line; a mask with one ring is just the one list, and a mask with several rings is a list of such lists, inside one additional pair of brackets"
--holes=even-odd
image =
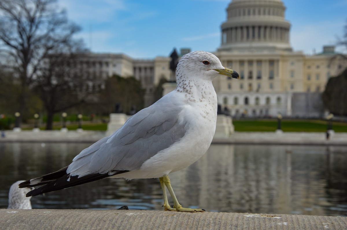
[(232, 0), (227, 15), (214, 54), (241, 79), (219, 77), (213, 85), (219, 104), (233, 116), (297, 116), (293, 103), (302, 102), (293, 94), (322, 92), (346, 66), (330, 63), (333, 46), (313, 56), (293, 51), (281, 0)]

